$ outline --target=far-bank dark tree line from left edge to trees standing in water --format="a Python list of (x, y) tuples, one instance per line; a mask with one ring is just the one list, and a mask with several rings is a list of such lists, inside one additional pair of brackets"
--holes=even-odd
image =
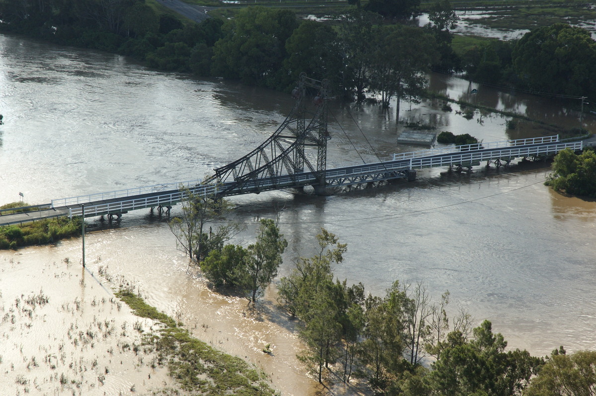
[[(390, 14), (411, 15), (415, 7)], [(143, 0), (4, 0), (0, 14), (4, 30), (119, 52), (160, 70), (288, 91), (306, 72), (329, 79), (336, 96), (378, 96), (384, 107), (396, 97), (418, 100), (424, 73), (439, 60), (429, 30), (383, 24), (378, 13), (357, 9), (334, 24), (262, 7), (184, 24)]]

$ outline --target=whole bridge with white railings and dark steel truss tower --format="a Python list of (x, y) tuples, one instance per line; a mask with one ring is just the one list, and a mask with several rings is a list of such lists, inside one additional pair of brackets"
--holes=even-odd
[[(302, 74), (292, 95), (296, 99), (293, 109), (263, 144), (215, 169), (215, 174), (204, 180), (52, 199), (49, 204), (37, 205), (34, 211), (4, 215), (0, 212), (0, 226), (61, 216), (106, 215), (111, 220), (131, 210), (154, 207), (160, 214), (163, 211), (169, 214), (173, 205), (190, 195), (228, 197), (279, 189), (302, 190), (305, 186), (312, 186), (316, 194), (324, 194), (330, 186), (341, 188), (401, 178), (414, 180), (417, 169), (455, 167), (469, 171), (484, 161), (499, 167), (514, 158), (547, 158), (562, 149), (583, 149), (583, 141), (564, 142), (557, 135), (406, 152), (371, 163), (327, 169), (328, 83)], [(316, 150), (306, 150), (308, 146)]]

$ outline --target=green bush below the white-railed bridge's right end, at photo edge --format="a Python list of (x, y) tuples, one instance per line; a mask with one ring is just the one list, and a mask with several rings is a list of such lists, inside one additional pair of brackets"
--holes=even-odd
[(570, 148), (559, 151), (546, 184), (556, 191), (596, 198), (596, 152), (586, 149), (576, 155)]

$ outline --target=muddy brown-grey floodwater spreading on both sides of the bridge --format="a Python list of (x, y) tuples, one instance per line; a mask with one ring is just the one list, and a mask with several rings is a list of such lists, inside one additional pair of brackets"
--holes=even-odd
[[(469, 98), (548, 124), (579, 125), (578, 114), (560, 102), (431, 77), (433, 89), (454, 99)], [(479, 89), (477, 97), (470, 88)], [(278, 92), (193, 80), (148, 70), (117, 55), (0, 35), (5, 122), (0, 127), (0, 202), (17, 201), (20, 192), (26, 202), (40, 204), (197, 179), (266, 139), (291, 105), (291, 98)], [(470, 133), (485, 142), (552, 134), (535, 123), (509, 129), (509, 119), (495, 114), (476, 113), (466, 120), (456, 113), (457, 105), (451, 112), (440, 110), (441, 105), (402, 103), (400, 118), (432, 123), (437, 131)], [(329, 119), (329, 166), (420, 149), (396, 144), (404, 126), (396, 124), (391, 111), (332, 104)], [(583, 117), (583, 127), (594, 131), (594, 120)], [(325, 227), (348, 244), (335, 272), (349, 284), (362, 282), (368, 292), (382, 295), (393, 280), (420, 281), (435, 300), (449, 290), (449, 314), (464, 307), (475, 323), (491, 320), (509, 347), (537, 356), (559, 345), (570, 351), (594, 349), (596, 203), (552, 192), (544, 186), (548, 173), (544, 163), (498, 170), (482, 166), (471, 174), (433, 169), (419, 171), (412, 183), (327, 197), (289, 191), (234, 197), (233, 219), (247, 224), (234, 242), (250, 242), (259, 218), (280, 213), (281, 232), (289, 242), (280, 276), (290, 273), (296, 257), (313, 253), (314, 236)], [(283, 394), (315, 391), (295, 356), (302, 348), (291, 331), (295, 323), (275, 307), (271, 290), (257, 311), (247, 310), (242, 298), (209, 291), (176, 250), (167, 224), (148, 211), (125, 214), (119, 224), (91, 232), (85, 241), (90, 272), (97, 275), (102, 266), (124, 277), (148, 303), (186, 323), (199, 338), (261, 367)], [(60, 300), (55, 289), (69, 286), (35, 273), (60, 272), (66, 257), (79, 265), (80, 239), (16, 254), (0, 252), (5, 309), (20, 294), (38, 293), (42, 285), (51, 299)], [(25, 263), (28, 277), (17, 261)], [(63, 300), (82, 292), (69, 291)], [(57, 309), (54, 314), (61, 313)], [(51, 331), (66, 332), (70, 322), (63, 322), (62, 329)], [(10, 338), (2, 338), (2, 349), (48, 344), (48, 334), (25, 330), (15, 328)], [(262, 353), (266, 344), (272, 356)], [(18, 354), (5, 353), (2, 372), (10, 372), (8, 356)], [(19, 364), (27, 373), (26, 362)], [(0, 385), (10, 381), (15, 386), (14, 376), (5, 378)]]

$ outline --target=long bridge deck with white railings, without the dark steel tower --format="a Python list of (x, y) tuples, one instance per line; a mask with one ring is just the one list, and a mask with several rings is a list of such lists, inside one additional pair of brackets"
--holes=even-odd
[[(564, 148), (574, 151), (583, 148), (582, 141), (560, 142), (558, 136), (535, 139), (494, 142), (440, 149), (394, 154), (377, 163), (352, 164), (328, 169), (325, 180), (329, 186), (347, 186), (358, 183), (398, 179), (408, 176), (414, 169), (442, 166), (473, 166), (481, 161), (510, 160), (519, 157), (554, 155)], [(259, 194), (274, 189), (300, 188), (317, 185), (313, 172), (287, 174), (247, 180), (241, 185), (226, 182), (219, 185), (201, 185), (201, 180), (168, 183), (133, 189), (83, 195), (80, 197), (52, 199), (48, 210), (0, 215), (0, 226), (32, 222), (38, 219), (60, 216), (81, 216), (83, 205), (85, 217), (105, 214), (122, 214), (130, 210), (148, 207), (171, 207), (186, 197), (186, 190), (193, 194), (219, 194), (222, 196)], [(180, 187), (184, 189), (180, 189)]]

